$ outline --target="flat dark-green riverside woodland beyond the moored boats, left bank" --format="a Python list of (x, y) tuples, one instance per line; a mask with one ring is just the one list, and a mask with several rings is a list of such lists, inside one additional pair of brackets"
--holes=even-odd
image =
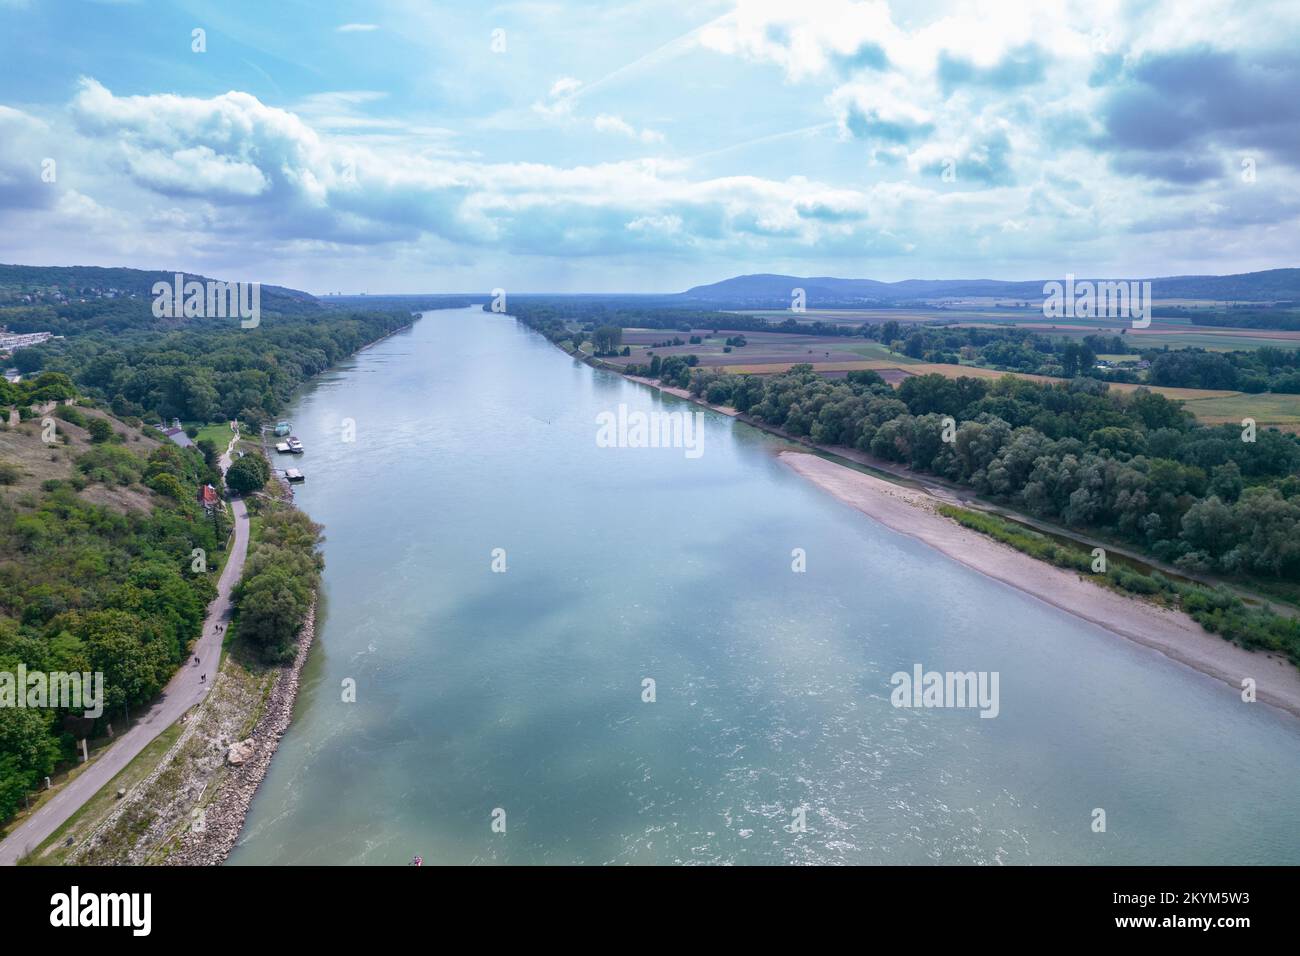
[(14, 360), (66, 375), (118, 416), (256, 427), (311, 376), (410, 323), (404, 311), (317, 310), (264, 315), (255, 329), (214, 320), (164, 334), (92, 332), (22, 349)]

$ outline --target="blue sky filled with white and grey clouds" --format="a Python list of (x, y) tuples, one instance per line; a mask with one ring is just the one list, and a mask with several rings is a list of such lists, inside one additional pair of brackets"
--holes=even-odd
[(322, 294), (1300, 265), (1300, 3), (0, 0), (0, 261)]

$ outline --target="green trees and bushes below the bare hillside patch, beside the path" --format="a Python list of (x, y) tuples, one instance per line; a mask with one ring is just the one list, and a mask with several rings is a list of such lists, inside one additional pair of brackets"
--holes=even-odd
[[(104, 675), (98, 721), (82, 710), (0, 708), (0, 822), (75, 760), (77, 739), (101, 735), (108, 722), (125, 727), (126, 713), (156, 697), (185, 661), (216, 594), (208, 562), (229, 531), (196, 501), (211, 477), (198, 450), (168, 444), (146, 458), (105, 442), (39, 497), (0, 499), (0, 671)], [(148, 512), (124, 514), (79, 497), (94, 484), (143, 485), (159, 497)]]

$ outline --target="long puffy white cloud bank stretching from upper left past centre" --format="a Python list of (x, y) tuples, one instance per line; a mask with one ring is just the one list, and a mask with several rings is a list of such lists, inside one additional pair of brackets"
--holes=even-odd
[[(671, 237), (680, 250), (725, 251), (842, 238), (868, 206), (862, 193), (803, 177), (693, 179), (680, 163), (563, 168), (412, 156), (321, 135), (243, 92), (117, 96), (87, 78), (70, 114), (135, 187), (202, 202), (231, 229), (283, 238), (368, 245), (432, 234), (520, 254), (602, 255)], [(638, 142), (658, 138), (612, 114), (594, 124)]]

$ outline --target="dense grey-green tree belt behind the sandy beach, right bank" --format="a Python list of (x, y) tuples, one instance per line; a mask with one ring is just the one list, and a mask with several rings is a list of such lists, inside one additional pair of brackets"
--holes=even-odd
[(1243, 441), (1145, 389), (927, 375), (894, 392), (874, 372), (832, 381), (796, 365), (768, 378), (696, 369), (690, 390), (1179, 567), (1300, 580), (1300, 442), (1277, 431)]

